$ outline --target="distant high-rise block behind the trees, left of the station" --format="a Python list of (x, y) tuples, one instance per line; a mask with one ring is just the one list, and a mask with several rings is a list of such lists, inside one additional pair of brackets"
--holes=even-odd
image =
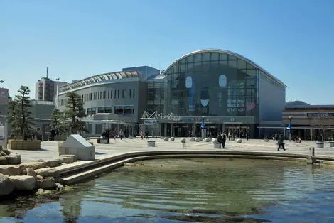
[(57, 88), (68, 85), (68, 82), (50, 80), (48, 77), (42, 77), (36, 82), (35, 99), (41, 101), (53, 102), (57, 94)]

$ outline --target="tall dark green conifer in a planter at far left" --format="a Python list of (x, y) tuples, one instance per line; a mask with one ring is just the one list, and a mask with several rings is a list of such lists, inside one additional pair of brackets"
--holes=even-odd
[(14, 129), (14, 133), (26, 140), (29, 134), (33, 132), (33, 117), (31, 116), (30, 89), (27, 86), (21, 86), (14, 100), (9, 102), (7, 110), (7, 119)]

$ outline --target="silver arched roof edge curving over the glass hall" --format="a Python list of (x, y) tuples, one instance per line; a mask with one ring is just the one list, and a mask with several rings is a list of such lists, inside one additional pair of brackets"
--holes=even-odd
[(262, 72), (264, 72), (266, 75), (268, 75), (269, 77), (271, 77), (273, 80), (276, 80), (276, 82), (279, 82), (279, 84), (283, 85), (284, 87), (286, 87), (286, 85), (284, 84), (284, 82), (281, 82), (281, 80), (279, 80), (277, 77), (275, 77), (274, 75), (271, 75), (269, 72), (267, 72), (266, 70), (264, 70), (262, 67), (260, 67), (259, 65), (257, 65), (256, 62), (249, 60), (249, 58), (246, 58), (242, 55), (239, 55), (238, 53), (234, 53), (232, 51), (229, 50), (220, 50), (220, 49), (206, 49), (206, 50), (196, 50), (193, 51), (191, 53), (188, 53), (186, 55), (183, 55), (181, 58), (178, 58), (178, 60), (176, 60), (175, 62), (173, 62), (164, 72), (163, 75), (166, 75), (166, 73), (168, 72), (168, 70), (171, 69), (171, 67), (173, 67), (173, 65), (176, 65), (176, 63), (180, 62), (181, 60), (183, 60), (184, 58), (188, 58), (190, 55), (195, 55), (198, 53), (225, 53), (227, 55), (232, 55), (235, 56), (239, 59), (242, 59), (246, 62), (249, 62), (251, 65), (253, 65), (254, 67), (256, 67), (257, 69), (261, 70)]

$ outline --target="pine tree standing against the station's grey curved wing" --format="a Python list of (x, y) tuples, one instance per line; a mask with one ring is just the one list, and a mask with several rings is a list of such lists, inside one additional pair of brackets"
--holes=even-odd
[(84, 118), (85, 109), (83, 108), (84, 102), (79, 94), (75, 92), (68, 92), (66, 94), (68, 102), (65, 109), (65, 117), (69, 119), (70, 123), (68, 124), (68, 132), (70, 134), (82, 133), (86, 131), (85, 121), (81, 121), (81, 118)]

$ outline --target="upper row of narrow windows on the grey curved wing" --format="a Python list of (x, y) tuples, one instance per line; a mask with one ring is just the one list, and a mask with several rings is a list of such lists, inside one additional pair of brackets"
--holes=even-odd
[[(134, 89), (115, 89), (103, 92), (92, 92), (87, 94), (81, 94), (82, 102), (89, 102), (92, 100), (102, 100), (102, 99), (117, 99), (117, 98), (134, 98), (135, 90)], [(60, 99), (58, 104), (60, 106), (66, 105), (68, 99)]]

